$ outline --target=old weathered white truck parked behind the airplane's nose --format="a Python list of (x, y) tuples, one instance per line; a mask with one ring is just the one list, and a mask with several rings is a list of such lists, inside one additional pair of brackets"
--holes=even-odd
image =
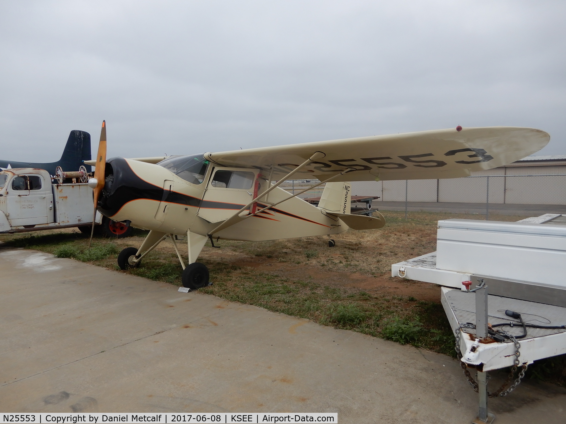
[[(67, 173), (71, 174), (71, 173)], [(72, 172), (78, 174), (78, 172)], [(59, 177), (59, 178), (57, 178)], [(52, 180), (55, 183), (52, 183)], [(92, 189), (87, 183), (65, 183), (38, 168), (13, 168), (0, 172), (0, 233), (78, 227), (91, 232)], [(75, 179), (71, 181), (79, 181)], [(96, 213), (98, 235), (125, 237), (131, 228)]]

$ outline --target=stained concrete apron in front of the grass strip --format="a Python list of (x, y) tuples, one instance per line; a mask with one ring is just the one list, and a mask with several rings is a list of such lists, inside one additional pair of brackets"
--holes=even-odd
[[(0, 249), (1, 412), (338, 412), (469, 423), (457, 361), (72, 259)], [(566, 391), (523, 383), (500, 423), (563, 423)]]

